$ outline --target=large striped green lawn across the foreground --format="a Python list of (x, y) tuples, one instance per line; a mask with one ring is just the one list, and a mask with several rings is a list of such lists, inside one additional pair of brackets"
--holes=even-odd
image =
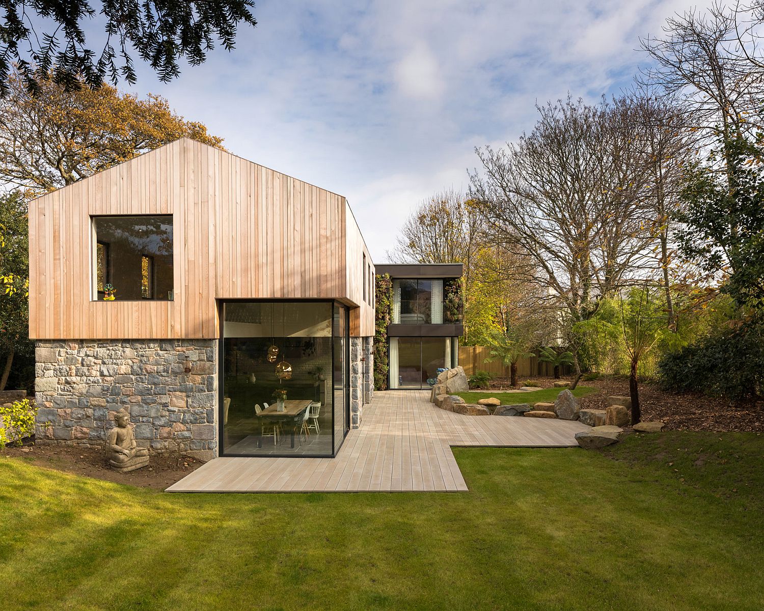
[(764, 436), (455, 448), (468, 493), (163, 494), (0, 458), (3, 609), (761, 609)]

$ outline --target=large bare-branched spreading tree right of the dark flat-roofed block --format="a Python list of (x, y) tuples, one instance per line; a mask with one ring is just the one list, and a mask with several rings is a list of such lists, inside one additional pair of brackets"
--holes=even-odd
[(628, 100), (568, 98), (538, 110), (536, 127), (516, 144), (476, 150), (483, 173), (471, 173), (471, 197), (494, 244), (529, 262), (515, 273), (539, 288), (537, 307), (562, 312), (575, 387), (576, 323), (651, 257), (647, 158), (633, 146), (639, 109)]

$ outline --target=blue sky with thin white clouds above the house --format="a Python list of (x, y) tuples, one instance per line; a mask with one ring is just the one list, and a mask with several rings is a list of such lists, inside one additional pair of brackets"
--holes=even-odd
[(225, 138), (232, 153), (347, 197), (371, 256), (387, 260), (416, 205), (466, 189), (475, 147), (535, 121), (536, 102), (595, 102), (646, 64), (688, 0), (277, 2), (257, 27), (169, 84), (136, 86)]

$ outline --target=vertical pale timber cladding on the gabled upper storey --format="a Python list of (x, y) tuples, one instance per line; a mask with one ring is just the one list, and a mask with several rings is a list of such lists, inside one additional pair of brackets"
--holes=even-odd
[[(173, 215), (173, 301), (91, 300), (90, 218), (105, 214)], [(31, 338), (216, 338), (216, 298), (339, 299), (354, 335), (374, 333), (345, 198), (196, 141), (34, 200), (29, 225)]]

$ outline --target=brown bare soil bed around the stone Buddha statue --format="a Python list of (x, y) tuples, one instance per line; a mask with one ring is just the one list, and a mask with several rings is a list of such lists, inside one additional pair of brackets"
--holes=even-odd
[(164, 490), (204, 464), (189, 457), (151, 454), (148, 467), (117, 473), (109, 468), (105, 451), (63, 445), (24, 445), (21, 448), (7, 445), (0, 450), (0, 456), (22, 458), (37, 467), (154, 490)]

